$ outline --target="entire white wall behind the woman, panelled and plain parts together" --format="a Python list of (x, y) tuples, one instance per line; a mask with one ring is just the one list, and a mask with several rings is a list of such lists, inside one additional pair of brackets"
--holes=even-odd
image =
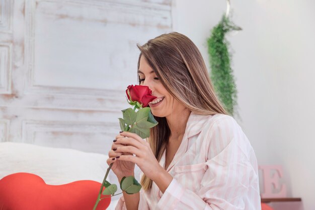
[[(314, 209), (311, 133), (315, 2), (231, 1), (238, 122), (260, 165), (280, 164), (288, 196)], [(225, 1), (0, 0), (0, 142), (104, 153), (136, 83), (136, 43), (172, 30), (208, 64)], [(128, 33), (126, 33), (126, 31)], [(91, 82), (93, 81), (93, 82)], [(114, 104), (114, 105), (113, 105)]]

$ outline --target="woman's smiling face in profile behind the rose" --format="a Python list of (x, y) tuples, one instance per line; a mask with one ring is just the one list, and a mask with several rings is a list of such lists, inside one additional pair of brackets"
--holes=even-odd
[[(140, 57), (138, 75), (140, 85), (148, 86), (152, 90), (152, 96), (156, 96), (149, 106), (152, 114), (157, 117), (167, 117), (176, 110), (178, 105), (181, 105), (173, 96), (164, 88), (159, 78), (156, 77), (153, 69), (148, 65), (143, 56)], [(161, 100), (159, 103), (155, 103)], [(155, 104), (154, 104), (155, 103)]]

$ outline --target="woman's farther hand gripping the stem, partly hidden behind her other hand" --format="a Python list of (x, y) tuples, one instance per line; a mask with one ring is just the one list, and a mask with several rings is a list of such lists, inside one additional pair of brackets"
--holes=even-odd
[(111, 163), (113, 163), (112, 165), (112, 170), (113, 172), (116, 174), (119, 182), (120, 180), (125, 176), (134, 176), (134, 163), (129, 162), (129, 161), (116, 161), (118, 159), (120, 159), (122, 156), (124, 155), (132, 155), (132, 154), (128, 154), (128, 153), (122, 153), (122, 152), (118, 152), (117, 149), (119, 147), (124, 147), (125, 145), (122, 145), (118, 142), (119, 138), (125, 138), (125, 136), (118, 134), (115, 138), (115, 142), (112, 144), (112, 150), (109, 151), (108, 156), (109, 159), (107, 159), (107, 164), (110, 165)]

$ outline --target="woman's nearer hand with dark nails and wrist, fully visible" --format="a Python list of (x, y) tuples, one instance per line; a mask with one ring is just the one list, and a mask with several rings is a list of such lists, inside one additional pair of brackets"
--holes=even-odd
[[(120, 133), (120, 135), (126, 137), (116, 138), (117, 142), (115, 142), (115, 144), (119, 145), (119, 147), (117, 147), (115, 152), (116, 154), (123, 153), (125, 155), (120, 155), (120, 157), (115, 160), (116, 165), (121, 166), (124, 164), (123, 166), (126, 167), (133, 164), (134, 167), (134, 164), (137, 164), (148, 178), (154, 180), (155, 177), (159, 175), (157, 172), (163, 169), (163, 167), (156, 160), (149, 144), (135, 133), (125, 131)], [(133, 154), (135, 154), (135, 156), (133, 156)]]

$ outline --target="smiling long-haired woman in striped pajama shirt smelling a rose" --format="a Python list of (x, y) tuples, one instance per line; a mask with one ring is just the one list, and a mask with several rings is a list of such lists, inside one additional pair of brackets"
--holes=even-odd
[(147, 141), (116, 136), (107, 163), (118, 180), (135, 164), (142, 171), (140, 192), (124, 192), (116, 209), (261, 209), (255, 153), (215, 96), (196, 45), (173, 32), (138, 48), (139, 84), (157, 97), (149, 106), (159, 124)]

